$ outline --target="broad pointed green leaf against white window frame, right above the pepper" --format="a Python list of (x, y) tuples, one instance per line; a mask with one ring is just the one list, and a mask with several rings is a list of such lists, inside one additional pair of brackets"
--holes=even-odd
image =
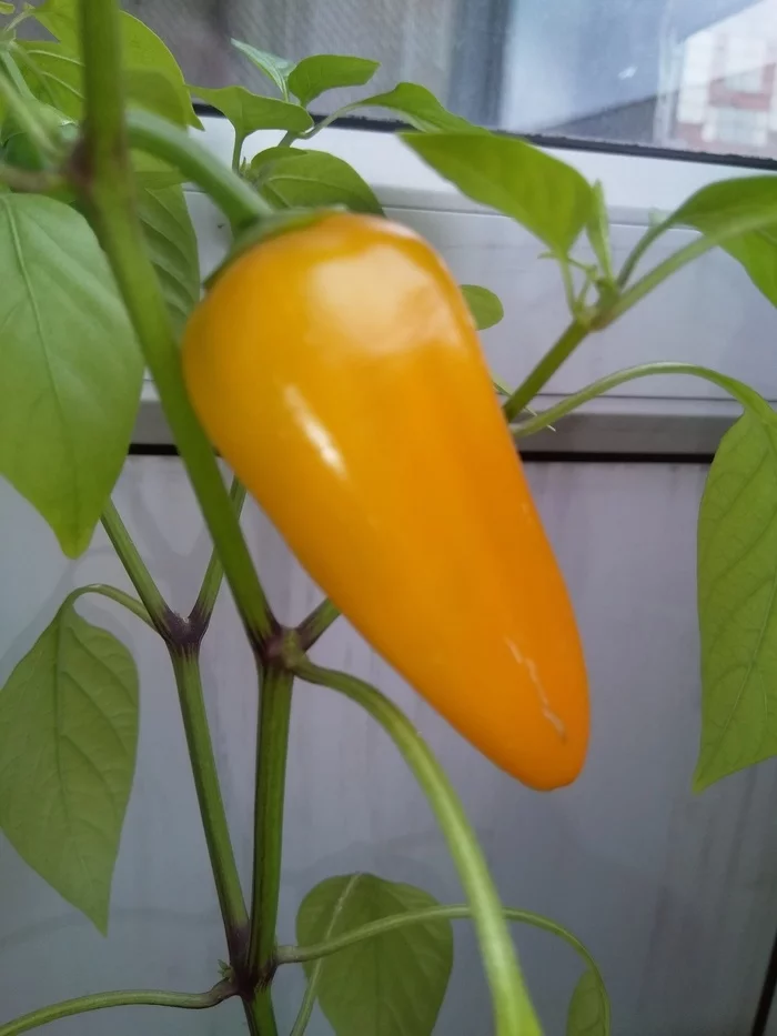
[(486, 132), (401, 135), (463, 194), (517, 220), (556, 255), (567, 254), (591, 217), (588, 182), (523, 140)]

